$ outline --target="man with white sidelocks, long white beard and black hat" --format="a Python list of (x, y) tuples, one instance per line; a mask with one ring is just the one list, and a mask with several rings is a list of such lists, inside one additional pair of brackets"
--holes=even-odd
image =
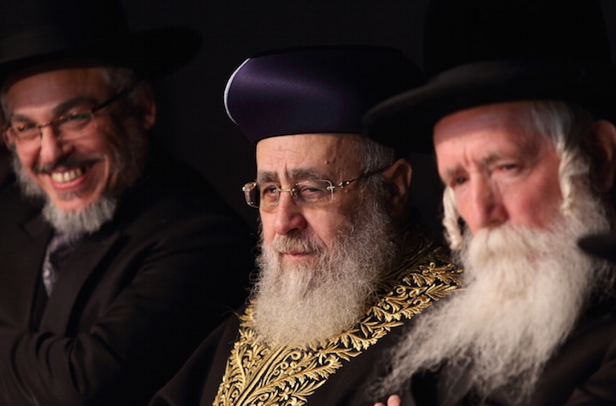
[(615, 405), (615, 269), (577, 247), (614, 225), (616, 76), (600, 4), (434, 0), (424, 41), (428, 83), (365, 125), (434, 148), (465, 290), (417, 319), (380, 393)]

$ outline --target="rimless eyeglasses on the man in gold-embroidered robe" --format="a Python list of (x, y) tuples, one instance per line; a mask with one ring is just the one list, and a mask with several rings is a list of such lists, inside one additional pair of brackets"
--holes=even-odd
[(291, 196), (293, 196), (295, 204), (323, 206), (334, 200), (334, 190), (345, 188), (359, 179), (365, 179), (379, 174), (383, 172), (384, 169), (386, 168), (368, 172), (355, 179), (342, 181), (337, 184), (328, 179), (306, 179), (293, 184), (290, 188), (281, 188), (278, 184), (273, 182), (248, 182), (242, 186), (241, 190), (244, 191), (244, 198), (248, 206), (257, 209), (260, 208), (265, 211), (271, 211), (278, 205), (282, 192), (290, 193)]

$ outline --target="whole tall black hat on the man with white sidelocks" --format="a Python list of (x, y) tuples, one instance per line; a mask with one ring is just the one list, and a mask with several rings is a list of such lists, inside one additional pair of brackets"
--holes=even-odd
[(428, 83), (375, 106), (368, 134), (432, 151), (440, 118), (483, 104), (557, 99), (616, 115), (616, 75), (596, 0), (434, 0), (424, 27)]

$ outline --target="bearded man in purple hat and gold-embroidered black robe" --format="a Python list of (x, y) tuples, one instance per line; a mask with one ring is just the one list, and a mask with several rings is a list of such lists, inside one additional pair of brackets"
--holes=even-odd
[(360, 133), (419, 70), (398, 50), (300, 48), (247, 59), (225, 90), (256, 143), (261, 222), (250, 301), (152, 405), (369, 405), (383, 352), (458, 271), (405, 209), (411, 167)]

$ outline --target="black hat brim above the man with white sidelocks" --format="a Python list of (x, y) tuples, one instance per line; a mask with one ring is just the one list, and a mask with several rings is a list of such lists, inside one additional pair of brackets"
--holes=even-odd
[(615, 113), (614, 66), (501, 60), (458, 66), (427, 85), (391, 97), (367, 112), (367, 135), (393, 148), (433, 151), (432, 130), (455, 111), (484, 104), (555, 99), (603, 118)]

